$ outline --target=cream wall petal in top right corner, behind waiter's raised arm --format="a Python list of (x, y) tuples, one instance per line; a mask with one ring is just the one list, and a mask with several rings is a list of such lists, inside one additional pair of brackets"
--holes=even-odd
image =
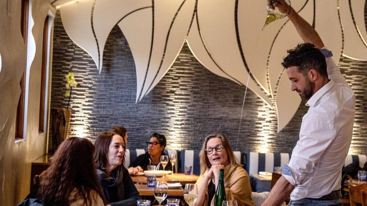
[[(339, 4), (344, 32), (343, 55), (351, 59), (367, 60), (367, 34), (366, 24), (364, 23), (364, 1), (341, 0), (339, 1)], [(352, 8), (352, 11), (350, 8)], [(357, 25), (354, 24), (352, 15)], [(360, 33), (358, 32), (357, 28)]]

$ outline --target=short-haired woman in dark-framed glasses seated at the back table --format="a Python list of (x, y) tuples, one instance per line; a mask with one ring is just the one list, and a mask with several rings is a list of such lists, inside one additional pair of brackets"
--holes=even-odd
[[(148, 152), (139, 155), (139, 157), (132, 161), (130, 166), (141, 166), (143, 170), (148, 170), (148, 165), (155, 165), (156, 170), (163, 170), (163, 166), (160, 163), (160, 157), (161, 155), (167, 155), (163, 152), (164, 148), (166, 147), (166, 137), (158, 133), (153, 133), (153, 135), (150, 136), (149, 141), (146, 142), (146, 146), (148, 146)], [(172, 170), (170, 161), (168, 161), (168, 164), (164, 170)]]

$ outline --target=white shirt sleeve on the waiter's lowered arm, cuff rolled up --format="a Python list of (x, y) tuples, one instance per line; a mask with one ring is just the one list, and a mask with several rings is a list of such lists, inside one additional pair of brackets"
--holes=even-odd
[(283, 176), (288, 182), (295, 187), (302, 184), (334, 137), (335, 129), (324, 118), (315, 115), (304, 118), (289, 164), (283, 166)]

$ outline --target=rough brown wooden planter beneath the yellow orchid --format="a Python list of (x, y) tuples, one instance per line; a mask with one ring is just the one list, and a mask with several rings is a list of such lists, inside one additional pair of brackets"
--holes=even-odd
[(62, 141), (69, 137), (71, 108), (51, 108), (52, 148), (57, 150)]

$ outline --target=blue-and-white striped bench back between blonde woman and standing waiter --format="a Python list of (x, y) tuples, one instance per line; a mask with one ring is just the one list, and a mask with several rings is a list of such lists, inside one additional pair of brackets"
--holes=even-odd
[(248, 174), (258, 172), (274, 172), (274, 167), (289, 163), (289, 153), (246, 153), (245, 169)]

